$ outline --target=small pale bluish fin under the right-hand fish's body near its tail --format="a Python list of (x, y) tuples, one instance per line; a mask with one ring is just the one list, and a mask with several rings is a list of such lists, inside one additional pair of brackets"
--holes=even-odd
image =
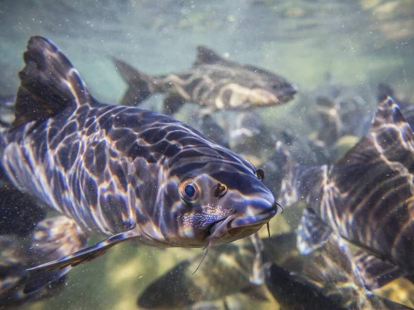
[(297, 228), (297, 249), (302, 255), (310, 254), (324, 245), (331, 233), (312, 209), (305, 209)]

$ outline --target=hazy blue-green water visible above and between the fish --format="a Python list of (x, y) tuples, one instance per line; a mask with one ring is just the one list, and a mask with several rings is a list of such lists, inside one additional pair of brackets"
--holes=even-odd
[[(15, 93), (19, 86), (17, 73), (27, 39), (40, 35), (59, 46), (91, 93), (105, 103), (117, 103), (126, 90), (109, 56), (151, 74), (180, 72), (190, 68), (196, 46), (202, 44), (229, 59), (281, 74), (298, 86), (296, 98), (257, 110), (276, 136), (281, 128), (296, 139), (323, 131), (306, 117), (316, 117), (315, 94), (324, 93), (329, 83), (362, 98), (358, 115), (368, 119), (376, 109), (378, 83), (392, 85), (399, 100), (414, 102), (411, 0), (2, 1), (0, 24), (0, 93), (4, 95)], [(161, 109), (161, 102), (162, 95), (155, 95), (142, 107)], [(195, 105), (186, 104), (175, 116), (194, 124), (195, 110)], [(363, 127), (362, 117), (356, 122), (355, 128)], [(340, 158), (366, 129), (347, 136), (351, 142), (336, 144), (335, 156), (317, 162), (328, 164)], [(298, 149), (303, 149), (298, 143)], [(242, 153), (260, 164), (271, 151)], [(300, 214), (287, 209), (276, 215), (272, 234), (294, 230)], [(260, 233), (265, 237), (265, 228)], [(137, 309), (137, 296), (149, 283), (200, 251), (123, 243), (74, 268), (60, 294), (21, 309)], [(413, 307), (414, 287), (404, 281), (378, 293)], [(237, 296), (239, 308), (234, 309), (278, 307), (271, 298), (259, 302)]]

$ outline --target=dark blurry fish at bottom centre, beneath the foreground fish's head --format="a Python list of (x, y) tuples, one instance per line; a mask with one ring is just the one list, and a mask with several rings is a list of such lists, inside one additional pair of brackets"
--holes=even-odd
[[(295, 234), (292, 235), (295, 236)], [(290, 248), (294, 248), (293, 251), (297, 253), (295, 240), (289, 234), (263, 239), (263, 255), (270, 254), (277, 262), (288, 260), (292, 253)], [(267, 300), (264, 286), (256, 285), (251, 281), (251, 270), (256, 255), (256, 249), (252, 243), (239, 240), (218, 245), (212, 248), (211, 252), (194, 275), (191, 271), (197, 266), (201, 254), (177, 263), (152, 281), (139, 294), (138, 307), (149, 310), (183, 309), (197, 302), (225, 300), (237, 293), (261, 301)]]

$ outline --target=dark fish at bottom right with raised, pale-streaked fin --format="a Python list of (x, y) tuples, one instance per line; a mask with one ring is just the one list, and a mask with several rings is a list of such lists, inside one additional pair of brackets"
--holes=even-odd
[(336, 234), (331, 234), (321, 248), (303, 256), (302, 270), (290, 273), (291, 281), (283, 281), (280, 273), (274, 276), (270, 277), (273, 283), (286, 287), (284, 294), (275, 296), (282, 309), (411, 309), (368, 291), (349, 245)]

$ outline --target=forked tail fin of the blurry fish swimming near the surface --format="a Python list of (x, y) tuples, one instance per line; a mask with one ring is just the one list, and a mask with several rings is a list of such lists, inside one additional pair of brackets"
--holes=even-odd
[(128, 90), (120, 101), (121, 105), (137, 106), (153, 93), (157, 92), (154, 77), (138, 71), (118, 58), (112, 57), (112, 61), (119, 74), (128, 84)]

